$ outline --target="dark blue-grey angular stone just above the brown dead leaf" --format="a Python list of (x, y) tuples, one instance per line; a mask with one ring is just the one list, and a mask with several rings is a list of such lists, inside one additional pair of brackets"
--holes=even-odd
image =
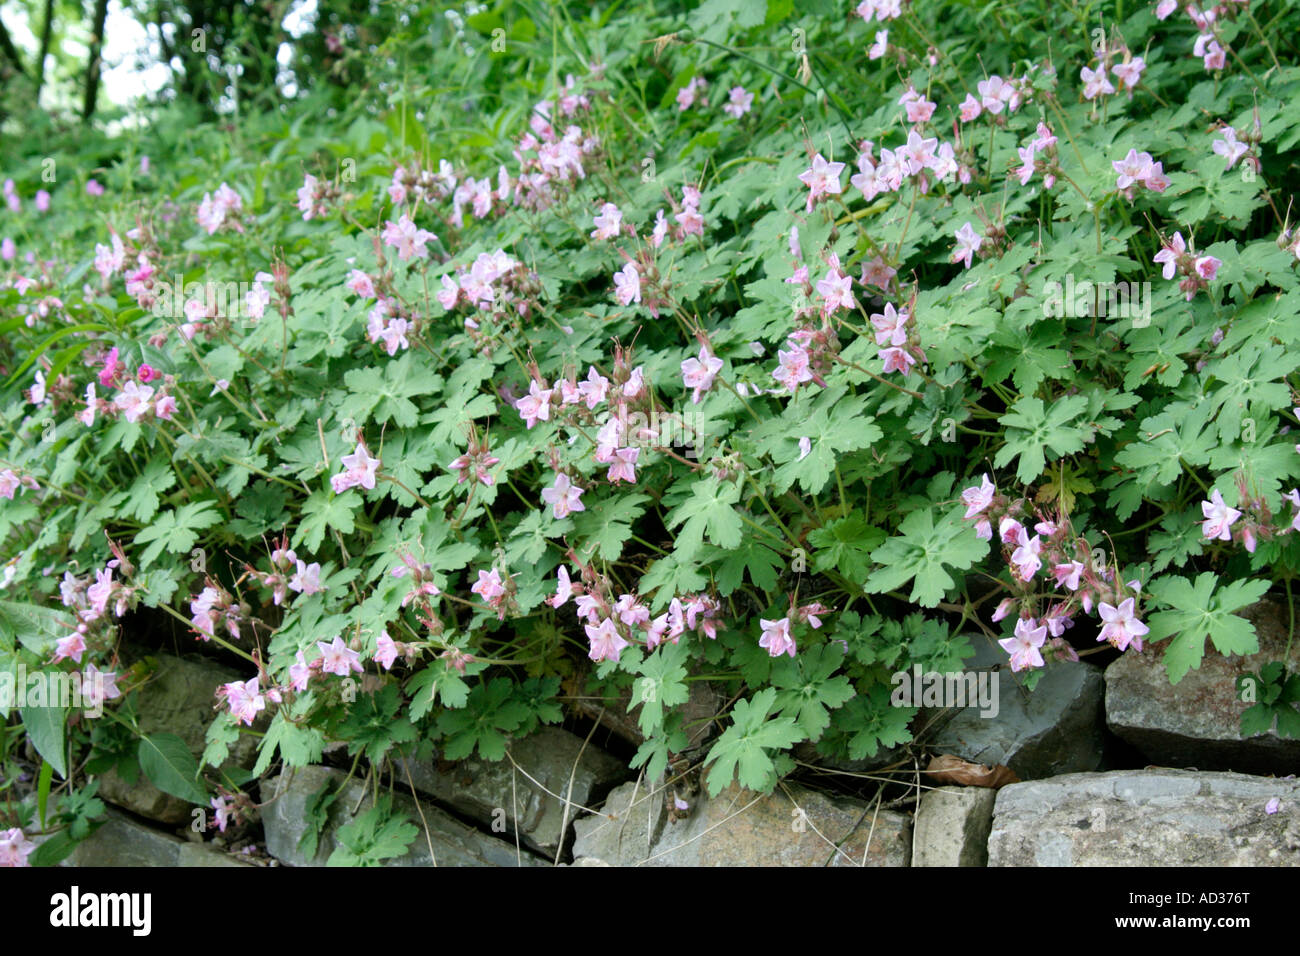
[(988, 766), (1002, 763), (1022, 780), (1101, 766), (1105, 682), (1097, 667), (1052, 661), (1028, 693), (1020, 675), (1008, 666), (1005, 650), (987, 640), (972, 644), (975, 657), (966, 661), (967, 671), (1001, 665), (996, 672), (997, 715), (982, 717), (979, 708), (954, 710), (954, 717), (924, 741), (935, 753)]

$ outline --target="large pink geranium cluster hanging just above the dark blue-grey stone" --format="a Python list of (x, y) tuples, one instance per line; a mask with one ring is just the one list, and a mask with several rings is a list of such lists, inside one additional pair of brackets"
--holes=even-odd
[[(962, 492), (962, 502), (966, 505), (963, 518), (975, 522), (979, 537), (992, 538), (993, 523), (997, 523), (1002, 557), (1011, 570), (1013, 587), (1019, 592), (1004, 598), (992, 615), (992, 620), (998, 622), (1018, 610), (1014, 635), (1000, 641), (1011, 656), (1011, 670), (1043, 667), (1045, 645), (1058, 659), (1078, 659), (1062, 636), (1074, 626), (1076, 607), (1091, 614), (1096, 606), (1102, 620), (1098, 641), (1109, 641), (1119, 650), (1132, 646), (1141, 652), (1141, 639), (1149, 628), (1138, 619), (1140, 581), (1118, 581), (1105, 562), (1095, 559), (1087, 540), (1072, 532), (1067, 518), (1037, 514), (1031, 536), (1020, 520), (1024, 499), (1011, 501), (1000, 494), (988, 475), (982, 475), (980, 484)], [(1050, 576), (1053, 585), (1065, 593), (1035, 591), (1040, 572)]]

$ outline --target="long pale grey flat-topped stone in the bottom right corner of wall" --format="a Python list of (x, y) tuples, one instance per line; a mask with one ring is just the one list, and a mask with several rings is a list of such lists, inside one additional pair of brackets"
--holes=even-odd
[(1117, 770), (1013, 783), (997, 793), (988, 865), (1297, 866), (1300, 782)]

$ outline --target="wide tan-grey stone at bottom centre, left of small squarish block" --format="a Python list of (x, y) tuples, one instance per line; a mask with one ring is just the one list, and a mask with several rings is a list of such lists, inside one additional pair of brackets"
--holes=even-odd
[[(788, 791), (788, 792), (786, 792)], [(785, 784), (770, 796), (732, 784), (703, 791), (672, 822), (662, 791), (627, 783), (599, 814), (580, 819), (573, 856), (614, 866), (906, 866), (906, 816)]]

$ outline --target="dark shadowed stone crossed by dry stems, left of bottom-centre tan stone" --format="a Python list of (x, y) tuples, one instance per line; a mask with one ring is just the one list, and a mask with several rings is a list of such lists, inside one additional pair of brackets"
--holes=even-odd
[[(403, 765), (410, 769), (416, 790), (484, 826), (504, 821), (512, 839), (517, 821), (520, 839), (550, 857), (566, 836), (560, 830), (564, 821), (560, 797), (569, 801), (568, 825), (572, 826), (576, 817), (628, 777), (623, 761), (594, 744), (584, 747), (582, 737), (559, 727), (543, 727), (515, 740), (510, 757), (514, 763), (510, 758), (473, 757), (455, 763), (403, 761)], [(398, 778), (403, 777), (399, 771)]]

